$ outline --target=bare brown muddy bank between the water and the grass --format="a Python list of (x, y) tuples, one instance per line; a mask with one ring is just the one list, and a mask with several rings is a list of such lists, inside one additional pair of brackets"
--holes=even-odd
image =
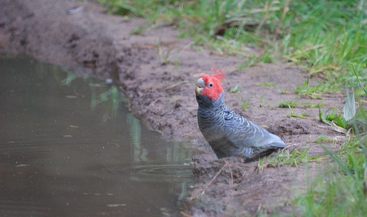
[[(294, 109), (296, 114), (309, 116), (289, 118), (290, 109), (278, 106), (280, 100), (324, 103), (324, 109), (343, 106), (342, 94), (324, 95), (322, 99), (293, 94), (307, 74), (291, 63), (238, 70), (245, 59), (195, 51), (190, 39), (178, 39), (172, 26), (147, 28), (140, 35), (132, 35), (131, 31), (144, 20), (108, 15), (104, 7), (91, 1), (83, 5), (82, 12), (67, 14), (69, 9), (81, 5), (83, 1), (74, 0), (1, 0), (0, 52), (27, 54), (78, 75), (112, 78), (130, 99), (129, 109), (151, 129), (167, 139), (190, 140), (202, 154), (193, 157), (198, 183), (184, 199), (184, 215), (290, 212), (293, 207), (289, 199), (322, 167), (315, 162), (307, 168), (265, 165), (258, 170), (256, 161), (217, 160), (198, 129), (194, 94), (195, 81), (200, 75), (211, 73), (211, 67), (226, 72), (225, 101), (229, 107), (279, 135), (289, 149), (310, 147), (309, 155), (321, 153), (315, 138), (322, 133), (338, 140), (329, 144), (333, 149), (338, 149), (344, 140), (318, 121), (318, 108), (298, 106)], [(258, 51), (249, 48), (248, 52)], [(260, 85), (264, 82), (275, 83), (286, 94), (274, 86)], [(230, 93), (236, 85), (240, 92)], [(241, 109), (243, 102), (249, 102), (245, 111)]]

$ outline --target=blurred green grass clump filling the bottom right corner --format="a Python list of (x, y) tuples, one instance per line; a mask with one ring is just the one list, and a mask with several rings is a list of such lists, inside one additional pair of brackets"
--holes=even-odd
[[(301, 216), (366, 216), (367, 150), (366, 136), (353, 137), (339, 153), (327, 151), (334, 164), (307, 183), (292, 204)], [(297, 215), (298, 216), (298, 215)]]

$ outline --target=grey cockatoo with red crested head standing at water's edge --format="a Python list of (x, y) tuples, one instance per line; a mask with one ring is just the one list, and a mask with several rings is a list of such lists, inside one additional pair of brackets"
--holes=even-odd
[[(224, 102), (224, 72), (211, 68), (212, 75), (202, 75), (196, 82), (198, 125), (217, 158), (252, 158), (265, 150), (285, 148), (285, 142), (263, 127), (236, 114)], [(264, 150), (263, 150), (264, 149)], [(259, 151), (258, 151), (259, 150)]]

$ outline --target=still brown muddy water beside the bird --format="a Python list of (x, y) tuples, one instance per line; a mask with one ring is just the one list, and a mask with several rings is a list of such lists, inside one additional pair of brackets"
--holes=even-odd
[(134, 118), (112, 85), (0, 58), (0, 216), (176, 216), (187, 143)]

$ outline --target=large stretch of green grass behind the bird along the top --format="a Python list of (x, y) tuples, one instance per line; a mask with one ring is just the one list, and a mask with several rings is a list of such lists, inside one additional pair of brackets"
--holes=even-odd
[[(97, 0), (110, 13), (142, 17), (135, 32), (173, 25), (195, 47), (244, 58), (239, 67), (287, 59), (321, 83), (296, 92), (336, 92), (357, 85), (350, 66), (367, 81), (367, 3), (350, 0)], [(258, 52), (254, 53), (253, 48)]]

